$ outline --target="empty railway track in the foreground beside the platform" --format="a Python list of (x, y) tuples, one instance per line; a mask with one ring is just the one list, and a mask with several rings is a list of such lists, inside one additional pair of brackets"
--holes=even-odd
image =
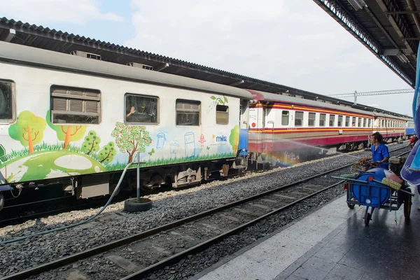
[[(401, 149), (403, 148), (390, 153), (395, 155)], [(119, 277), (122, 276), (123, 279), (142, 279), (158, 269), (169, 267), (169, 265), (188, 258), (188, 255), (204, 251), (209, 246), (246, 230), (269, 216), (279, 214), (310, 197), (340, 185), (341, 181), (330, 179), (330, 176), (343, 174), (343, 169), (346, 169), (346, 173), (348, 173), (349, 166), (338, 167), (265, 193), (247, 197), (244, 200), (238, 200), (158, 228), (140, 232), (137, 235), (118, 239), (16, 274), (10, 274), (2, 279), (26, 279), (52, 269), (57, 271), (60, 267), (71, 264), (73, 264), (73, 268), (77, 268), (78, 265), (74, 265), (76, 262), (79, 260), (90, 262), (87, 258), (92, 256), (116, 264)], [(153, 258), (136, 258), (136, 255), (141, 256), (141, 252), (150, 250), (150, 248), (158, 252)], [(77, 272), (74, 273), (77, 274)]]

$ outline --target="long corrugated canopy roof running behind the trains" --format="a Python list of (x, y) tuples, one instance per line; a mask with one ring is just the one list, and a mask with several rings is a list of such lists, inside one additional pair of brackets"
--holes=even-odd
[[(114, 62), (118, 64), (129, 64), (135, 62), (152, 66), (153, 71), (161, 71), (164, 73), (171, 73), (198, 80), (207, 80), (213, 83), (232, 85), (250, 90), (289, 94), (290, 96), (299, 96), (305, 99), (351, 106), (355, 109), (381, 111), (389, 113), (393, 116), (405, 116), (399, 113), (393, 113), (391, 111), (377, 109), (362, 104), (353, 104), (353, 102), (328, 97), (323, 94), (316, 94), (314, 92), (299, 90), (286, 85), (270, 83), (265, 80), (242, 76), (237, 73), (230, 73), (172, 57), (165, 57), (151, 52), (127, 48), (123, 45), (116, 45), (109, 42), (95, 40), (93, 38), (86, 38), (85, 36), (69, 34), (65, 31), (57, 31), (48, 27), (31, 25), (29, 23), (15, 21), (13, 19), (9, 20), (7, 18), (0, 18), (0, 41), (29, 45), (35, 48), (43, 48), (46, 50), (69, 54), (74, 51), (89, 52), (95, 55), (100, 55), (101, 59), (107, 62)], [(409, 117), (407, 116), (407, 118)]]

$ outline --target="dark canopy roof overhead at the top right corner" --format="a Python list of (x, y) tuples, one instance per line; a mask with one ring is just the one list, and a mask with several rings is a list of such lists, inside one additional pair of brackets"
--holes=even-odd
[(414, 88), (420, 0), (314, 0)]

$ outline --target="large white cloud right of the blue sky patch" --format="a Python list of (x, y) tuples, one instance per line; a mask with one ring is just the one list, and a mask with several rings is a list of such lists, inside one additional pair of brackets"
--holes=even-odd
[[(125, 45), (132, 48), (321, 94), (409, 88), (312, 0), (130, 5), (134, 34)], [(398, 95), (376, 99), (410, 114)]]

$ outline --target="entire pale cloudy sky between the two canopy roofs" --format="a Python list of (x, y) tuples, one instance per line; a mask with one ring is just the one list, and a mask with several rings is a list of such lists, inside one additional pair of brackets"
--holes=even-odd
[[(318, 94), (412, 88), (312, 0), (0, 0), (1, 17)], [(412, 116), (412, 99), (357, 101)]]

